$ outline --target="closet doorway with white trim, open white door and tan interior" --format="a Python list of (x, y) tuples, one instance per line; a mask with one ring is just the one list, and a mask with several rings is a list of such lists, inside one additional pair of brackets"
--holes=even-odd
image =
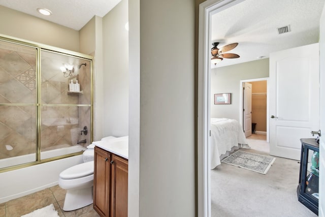
[[(247, 85), (248, 84), (248, 85)], [(251, 86), (249, 96), (245, 94), (245, 86)], [(266, 135), (269, 142), (269, 121), (268, 121), (268, 78), (257, 78), (240, 81), (240, 96), (242, 96), (239, 109), (239, 121), (243, 130), (251, 134)], [(246, 118), (250, 114), (250, 118)], [(246, 135), (246, 137), (249, 135)]]

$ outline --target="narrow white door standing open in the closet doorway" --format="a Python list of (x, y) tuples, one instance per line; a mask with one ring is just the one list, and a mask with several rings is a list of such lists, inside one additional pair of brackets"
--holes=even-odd
[(244, 88), (244, 109), (243, 109), (243, 117), (244, 117), (244, 133), (245, 136), (252, 135), (252, 84), (245, 82), (243, 85)]

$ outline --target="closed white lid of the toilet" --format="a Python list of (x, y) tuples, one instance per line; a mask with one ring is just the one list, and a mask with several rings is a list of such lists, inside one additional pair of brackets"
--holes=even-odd
[(60, 173), (60, 178), (73, 179), (73, 178), (80, 178), (91, 174), (93, 174), (93, 161), (78, 164), (76, 166), (63, 170)]

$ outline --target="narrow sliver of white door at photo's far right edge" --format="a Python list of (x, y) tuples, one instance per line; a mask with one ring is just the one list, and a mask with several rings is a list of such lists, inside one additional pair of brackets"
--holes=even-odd
[[(325, 8), (325, 7), (324, 7)], [(318, 216), (325, 216), (325, 10), (323, 9), (319, 24), (319, 90), (320, 90), (320, 105), (319, 105), (319, 122), (320, 122), (320, 137), (319, 137), (319, 201), (318, 201)], [(317, 129), (314, 129), (317, 131)]]

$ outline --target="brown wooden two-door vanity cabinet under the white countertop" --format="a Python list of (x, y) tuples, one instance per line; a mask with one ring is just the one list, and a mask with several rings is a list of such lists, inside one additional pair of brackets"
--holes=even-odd
[(127, 216), (128, 161), (95, 146), (93, 208), (102, 217)]

